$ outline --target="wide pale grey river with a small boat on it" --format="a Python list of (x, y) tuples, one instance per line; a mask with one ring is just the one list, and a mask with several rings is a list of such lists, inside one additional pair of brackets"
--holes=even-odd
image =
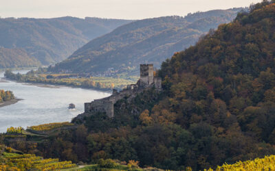
[[(17, 70), (14, 73), (27, 73), (28, 70)], [(0, 71), (0, 90), (11, 90), (16, 98), (23, 99), (13, 105), (0, 107), (0, 133), (8, 127), (26, 128), (32, 125), (50, 122), (71, 121), (83, 113), (84, 103), (96, 98), (109, 96), (109, 92), (68, 88), (56, 86), (33, 86), (3, 79)], [(74, 103), (76, 109), (67, 109)]]

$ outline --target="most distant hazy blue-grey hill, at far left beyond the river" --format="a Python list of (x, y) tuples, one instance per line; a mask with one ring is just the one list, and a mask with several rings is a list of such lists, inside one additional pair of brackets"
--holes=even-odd
[(65, 60), (98, 36), (131, 21), (103, 18), (0, 18), (0, 68)]

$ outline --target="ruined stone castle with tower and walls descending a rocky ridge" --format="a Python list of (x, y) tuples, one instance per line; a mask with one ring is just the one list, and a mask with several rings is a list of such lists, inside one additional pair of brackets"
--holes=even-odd
[(153, 88), (157, 91), (162, 90), (162, 78), (154, 77), (153, 64), (140, 64), (140, 79), (135, 84), (128, 85), (122, 91), (113, 90), (111, 96), (100, 98), (85, 103), (85, 113), (106, 112), (107, 116), (113, 117), (113, 105), (120, 99), (128, 96), (133, 98), (136, 94), (142, 92), (146, 88)]

